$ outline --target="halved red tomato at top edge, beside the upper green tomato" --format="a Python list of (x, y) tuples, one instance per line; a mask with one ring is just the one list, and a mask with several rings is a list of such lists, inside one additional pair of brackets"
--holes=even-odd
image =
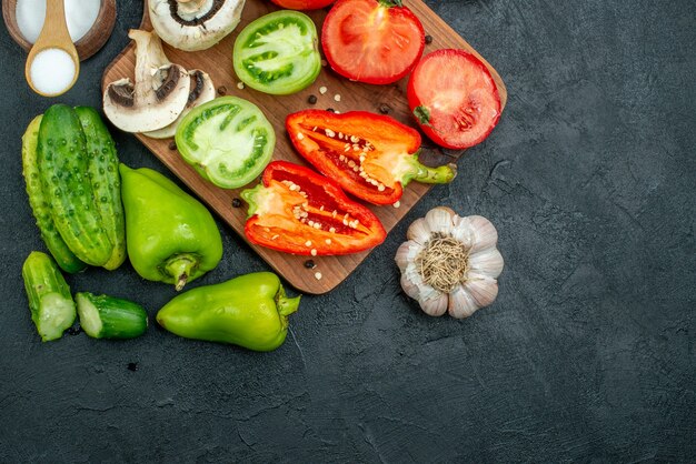
[(338, 0), (324, 21), (321, 47), (331, 68), (354, 81), (396, 82), (425, 47), (422, 24), (406, 7), (378, 0)]

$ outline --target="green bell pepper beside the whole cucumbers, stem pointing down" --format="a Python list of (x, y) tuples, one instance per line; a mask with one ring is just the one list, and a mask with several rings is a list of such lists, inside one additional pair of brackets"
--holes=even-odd
[(119, 170), (126, 244), (136, 272), (181, 290), (215, 269), (222, 239), (206, 206), (157, 171), (125, 164)]

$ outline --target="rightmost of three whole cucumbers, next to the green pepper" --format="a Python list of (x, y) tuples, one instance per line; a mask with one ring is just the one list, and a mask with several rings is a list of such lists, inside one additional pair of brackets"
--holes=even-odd
[(97, 199), (101, 223), (113, 244), (111, 258), (103, 265), (112, 271), (126, 260), (126, 225), (121, 203), (121, 178), (113, 139), (97, 110), (74, 109), (87, 139), (87, 172)]

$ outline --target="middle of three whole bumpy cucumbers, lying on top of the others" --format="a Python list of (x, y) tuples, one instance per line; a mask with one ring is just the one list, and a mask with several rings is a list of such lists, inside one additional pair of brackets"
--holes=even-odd
[(50, 107), (39, 128), (38, 164), (43, 192), (51, 199), (51, 218), (72, 252), (101, 266), (113, 244), (101, 224), (87, 172), (87, 141), (74, 110)]

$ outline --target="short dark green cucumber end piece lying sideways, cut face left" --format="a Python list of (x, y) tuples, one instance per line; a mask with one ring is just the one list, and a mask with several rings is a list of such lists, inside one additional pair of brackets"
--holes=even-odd
[(80, 325), (92, 339), (133, 339), (148, 327), (148, 314), (132, 301), (81, 292), (74, 295)]

